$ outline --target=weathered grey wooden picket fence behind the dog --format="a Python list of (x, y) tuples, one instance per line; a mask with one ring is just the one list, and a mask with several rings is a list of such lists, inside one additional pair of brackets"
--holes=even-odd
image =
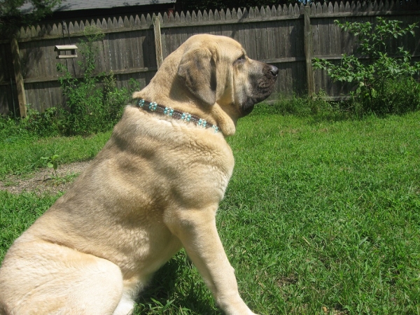
[[(323, 71), (312, 73), (314, 57), (339, 61), (343, 53), (354, 53), (356, 41), (334, 20), (374, 23), (377, 16), (401, 20), (402, 25), (419, 22), (420, 2), (325, 2), (305, 8), (278, 6), (215, 10), (167, 15), (130, 15), (95, 20), (68, 20), (52, 25), (20, 29), (16, 40), (0, 41), (0, 113), (25, 114), (25, 104), (43, 111), (62, 106), (62, 90), (57, 81), (57, 62), (67, 64), (75, 76), (82, 76), (77, 59), (56, 59), (55, 45), (78, 44), (88, 25), (104, 32), (97, 43), (97, 72), (112, 71), (119, 87), (130, 78), (141, 87), (151, 80), (162, 58), (193, 34), (230, 36), (239, 41), (249, 57), (274, 64), (279, 78), (272, 99), (279, 94), (303, 94), (325, 90), (340, 97), (347, 87), (333, 84)], [(420, 35), (393, 41), (420, 57)], [(308, 90), (309, 89), (309, 90)]]

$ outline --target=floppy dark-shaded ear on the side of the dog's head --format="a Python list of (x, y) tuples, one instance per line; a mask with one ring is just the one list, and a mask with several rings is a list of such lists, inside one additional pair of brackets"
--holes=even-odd
[(208, 105), (216, 103), (216, 60), (209, 49), (195, 48), (184, 52), (178, 76), (197, 99)]

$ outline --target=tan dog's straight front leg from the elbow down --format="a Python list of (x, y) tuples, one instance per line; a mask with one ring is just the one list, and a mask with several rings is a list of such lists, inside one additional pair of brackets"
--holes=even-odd
[(216, 230), (216, 208), (177, 209), (166, 223), (186, 248), (218, 307), (227, 315), (255, 315), (239, 296), (235, 271)]

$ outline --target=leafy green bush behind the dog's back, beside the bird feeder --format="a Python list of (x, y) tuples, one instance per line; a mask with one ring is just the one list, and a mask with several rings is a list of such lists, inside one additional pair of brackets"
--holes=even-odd
[[(95, 57), (98, 48), (94, 43), (102, 40), (104, 34), (97, 27), (86, 27), (87, 41), (79, 43), (79, 52), (83, 61), (78, 64), (83, 71), (83, 78), (74, 78), (64, 64), (57, 64), (57, 71), (64, 74), (59, 83), (66, 97), (69, 113), (64, 123), (66, 134), (92, 134), (109, 130), (120, 119), (123, 106), (130, 101), (130, 92), (126, 88), (118, 89), (116, 78), (111, 73), (95, 75)], [(104, 86), (99, 85), (99, 78), (104, 77)], [(131, 83), (135, 83), (132, 80)]]

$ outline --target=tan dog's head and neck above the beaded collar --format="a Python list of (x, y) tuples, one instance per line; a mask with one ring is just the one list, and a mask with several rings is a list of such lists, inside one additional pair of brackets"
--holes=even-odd
[(151, 83), (134, 98), (188, 111), (235, 133), (238, 118), (271, 94), (279, 70), (250, 59), (226, 36), (191, 36), (169, 55)]

